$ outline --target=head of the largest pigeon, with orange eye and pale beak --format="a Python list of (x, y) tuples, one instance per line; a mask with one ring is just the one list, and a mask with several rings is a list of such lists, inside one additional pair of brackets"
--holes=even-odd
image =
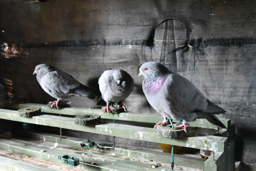
[(144, 76), (145, 78), (156, 78), (162, 77), (166, 74), (169, 74), (170, 71), (161, 63), (158, 62), (146, 62), (140, 67), (140, 76)]

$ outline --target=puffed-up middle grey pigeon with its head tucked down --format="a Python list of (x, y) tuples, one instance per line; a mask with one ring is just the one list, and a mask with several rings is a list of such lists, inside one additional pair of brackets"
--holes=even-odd
[(102, 99), (107, 103), (104, 112), (113, 108), (109, 105), (113, 105), (117, 102), (118, 107), (126, 107), (123, 105), (122, 100), (126, 99), (133, 91), (134, 81), (130, 74), (121, 69), (106, 70), (101, 74), (99, 78), (99, 87), (102, 94)]

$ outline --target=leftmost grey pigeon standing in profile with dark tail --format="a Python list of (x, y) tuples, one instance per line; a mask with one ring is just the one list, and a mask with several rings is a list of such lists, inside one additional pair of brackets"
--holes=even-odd
[(56, 105), (62, 98), (71, 96), (86, 96), (89, 99), (96, 99), (96, 92), (89, 87), (84, 86), (66, 72), (60, 71), (49, 64), (37, 65), (33, 73), (37, 74), (36, 79), (42, 89), (50, 96), (57, 99), (52, 102), (51, 108)]

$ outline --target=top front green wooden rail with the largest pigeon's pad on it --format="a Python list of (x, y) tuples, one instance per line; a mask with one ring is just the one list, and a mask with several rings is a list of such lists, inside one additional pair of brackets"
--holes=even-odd
[(85, 131), (97, 134), (118, 136), (124, 138), (131, 138), (136, 140), (151, 141), (157, 143), (178, 145), (184, 147), (206, 149), (211, 151), (223, 152), (227, 147), (227, 138), (198, 135), (194, 134), (191, 137), (183, 138), (167, 138), (156, 134), (153, 128), (122, 125), (122, 124), (100, 124), (81, 126), (74, 124), (74, 119), (70, 117), (54, 116), (54, 115), (40, 115), (32, 118), (19, 117), (16, 111), (0, 109), (0, 119), (7, 119), (19, 122), (27, 122), (39, 125), (61, 127), (77, 131)]

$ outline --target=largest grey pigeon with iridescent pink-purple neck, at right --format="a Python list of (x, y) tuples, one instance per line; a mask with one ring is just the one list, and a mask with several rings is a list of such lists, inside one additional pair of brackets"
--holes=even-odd
[(144, 76), (142, 82), (143, 92), (150, 105), (163, 117), (162, 126), (168, 123), (168, 119), (183, 120), (182, 125), (176, 125), (176, 129), (189, 126), (188, 121), (203, 117), (210, 123), (226, 128), (215, 114), (226, 111), (210, 102), (195, 86), (186, 78), (169, 71), (164, 65), (157, 62), (146, 62), (140, 67), (140, 76)]

